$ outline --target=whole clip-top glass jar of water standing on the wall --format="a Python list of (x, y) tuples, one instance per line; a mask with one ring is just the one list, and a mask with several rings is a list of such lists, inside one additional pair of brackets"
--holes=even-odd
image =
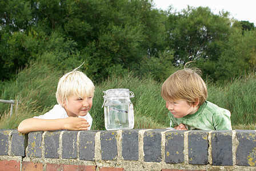
[(125, 88), (103, 91), (106, 130), (133, 129), (134, 111), (130, 98), (134, 93)]

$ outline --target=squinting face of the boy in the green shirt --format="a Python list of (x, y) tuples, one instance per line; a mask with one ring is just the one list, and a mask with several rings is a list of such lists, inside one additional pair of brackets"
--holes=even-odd
[(198, 110), (198, 107), (193, 107), (186, 100), (166, 101), (166, 108), (175, 118), (192, 115)]

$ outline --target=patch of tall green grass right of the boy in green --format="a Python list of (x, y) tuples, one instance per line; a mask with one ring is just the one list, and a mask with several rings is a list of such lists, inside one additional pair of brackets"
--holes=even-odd
[(226, 86), (208, 86), (209, 101), (229, 109), (233, 129), (256, 129), (256, 76), (235, 79)]

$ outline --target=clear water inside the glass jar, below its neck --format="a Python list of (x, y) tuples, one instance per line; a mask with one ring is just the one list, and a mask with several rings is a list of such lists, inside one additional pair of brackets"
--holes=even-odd
[(133, 104), (105, 105), (104, 113), (107, 130), (133, 129)]

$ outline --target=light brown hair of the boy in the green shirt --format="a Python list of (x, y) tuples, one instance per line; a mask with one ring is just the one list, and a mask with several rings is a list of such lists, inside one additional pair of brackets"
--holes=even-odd
[(171, 74), (161, 88), (161, 95), (167, 101), (186, 100), (193, 104), (199, 99), (198, 106), (207, 99), (206, 84), (199, 76), (198, 69), (184, 68)]

